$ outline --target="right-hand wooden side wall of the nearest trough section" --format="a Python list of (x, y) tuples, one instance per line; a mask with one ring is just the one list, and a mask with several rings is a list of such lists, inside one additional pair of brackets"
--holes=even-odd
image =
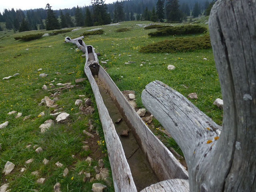
[(140, 148), (146, 155), (146, 158), (158, 179), (188, 179), (188, 172), (185, 168), (166, 148), (166, 146), (164, 146), (164, 144), (162, 144), (162, 142), (151, 132), (101, 66), (98, 78), (105, 84), (105, 88), (108, 90), (112, 99), (120, 109), (124, 119), (132, 128)]

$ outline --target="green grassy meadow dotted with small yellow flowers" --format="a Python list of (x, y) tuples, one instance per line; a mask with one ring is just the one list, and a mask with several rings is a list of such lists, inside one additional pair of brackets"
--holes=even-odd
[[(207, 26), (207, 21), (208, 17), (201, 17), (194, 23)], [(156, 31), (156, 29), (144, 30), (144, 26), (150, 23), (148, 21), (130, 21), (107, 26), (78, 28), (78, 30), (65, 34), (44, 36), (28, 42), (14, 40), (14, 37), (48, 33), (48, 31), (0, 32), (0, 124), (9, 122), (6, 128), (0, 129), (2, 147), (0, 151), (0, 186), (9, 183), (11, 192), (32, 190), (51, 192), (56, 182), (60, 182), (62, 192), (79, 192), (90, 191), (93, 182), (98, 182), (85, 183), (83, 176), (78, 174), (83, 170), (90, 172), (91, 177), (96, 175), (93, 166), (96, 166), (98, 161), (93, 160), (89, 165), (85, 159), (92, 155), (92, 152), (82, 150), (84, 145), (82, 141), (87, 139), (82, 131), (88, 130), (90, 119), (95, 128), (98, 128), (100, 150), (106, 152), (97, 110), (93, 115), (84, 116), (77, 114), (79, 106), (74, 105), (76, 99), (79, 99), (78, 95), (86, 95), (92, 100), (96, 109), (94, 96), (87, 81), (82, 84), (82, 88), (75, 87), (59, 94), (56, 104), (61, 111), (70, 114), (68, 124), (54, 123), (45, 134), (42, 134), (39, 128), (44, 121), (54, 119), (50, 116), (52, 108), (38, 106), (44, 96), (49, 96), (49, 92), (42, 90), (42, 86), (46, 84), (49, 88), (51, 83), (54, 85), (57, 83), (75, 84), (75, 79), (85, 77), (83, 68), (86, 59), (81, 56), (84, 53), (76, 49), (74, 44), (64, 44), (65, 36), (76, 38), (87, 30), (102, 28), (103, 34), (86, 36), (84, 42), (87, 45), (92, 45), (96, 52), (100, 52), (99, 60), (107, 60), (107, 64), (102, 64), (102, 66), (106, 67), (106, 71), (121, 91), (135, 90), (138, 107), (143, 107), (140, 95), (146, 84), (153, 80), (160, 80), (186, 97), (188, 94), (196, 92), (198, 99), (192, 99), (191, 102), (216, 123), (222, 124), (222, 110), (212, 104), (216, 98), (222, 98), (212, 49), (169, 54), (140, 53), (139, 50), (142, 46), (162, 40), (187, 37), (176, 35), (149, 37), (149, 32)], [(129, 30), (116, 32), (120, 28)], [(125, 64), (128, 61), (134, 62)], [(170, 64), (176, 68), (168, 70), (167, 66)], [(40, 68), (42, 70), (38, 71)], [(56, 74), (56, 72), (61, 74)], [(20, 75), (2, 80), (4, 77), (16, 73)], [(48, 74), (48, 76), (39, 77), (40, 73)], [(9, 115), (8, 112), (13, 110), (22, 112), (22, 117), (15, 118), (16, 114)], [(43, 111), (45, 115), (39, 116)], [(28, 115), (31, 115), (30, 118), (23, 121), (23, 118)], [(157, 121), (155, 122), (157, 124)], [(154, 132), (158, 134), (157, 130)], [(32, 146), (27, 148), (26, 146), (29, 144)], [(36, 153), (33, 149), (35, 145), (41, 146), (44, 151)], [(74, 158), (72, 158), (72, 154), (75, 155)], [(25, 164), (30, 158), (33, 158), (34, 161)], [(48, 165), (42, 163), (44, 158), (50, 160)], [(105, 157), (104, 160), (105, 166), (110, 168), (108, 158)], [(9, 175), (4, 176), (2, 170), (7, 161), (16, 166)], [(56, 167), (55, 163), (58, 161), (64, 166)], [(20, 172), (21, 168), (26, 168), (26, 171)], [(66, 177), (63, 176), (64, 168), (69, 169)], [(39, 172), (39, 177), (46, 178), (44, 184), (38, 184), (36, 182), (38, 177), (31, 174), (36, 170)], [(103, 180), (100, 182), (106, 184)], [(108, 186), (108, 191), (114, 191), (113, 186)]]

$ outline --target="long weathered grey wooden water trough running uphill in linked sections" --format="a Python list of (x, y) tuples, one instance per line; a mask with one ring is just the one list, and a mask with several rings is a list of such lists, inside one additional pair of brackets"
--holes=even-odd
[(175, 191), (178, 186), (180, 189), (183, 189), (184, 192), (188, 192), (188, 172), (166, 146), (151, 132), (107, 72), (100, 66), (94, 48), (91, 45), (85, 45), (82, 41), (82, 37), (73, 40), (66, 37), (65, 40), (66, 42), (76, 44), (86, 56), (84, 73), (88, 77), (96, 99), (106, 140), (106, 147), (108, 149), (115, 191), (137, 192), (138, 187), (135, 185), (122, 143), (103, 102), (94, 76), (97, 76), (98, 80), (104, 84), (104, 88), (106, 88), (126, 121), (126, 124), (132, 130), (140, 149), (158, 179), (158, 183), (148, 186), (141, 191)]

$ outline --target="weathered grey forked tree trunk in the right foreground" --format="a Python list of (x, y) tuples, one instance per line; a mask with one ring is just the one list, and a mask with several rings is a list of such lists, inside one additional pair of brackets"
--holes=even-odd
[(209, 30), (224, 102), (220, 138), (210, 118), (161, 82), (146, 86), (142, 102), (184, 152), (190, 192), (254, 192), (256, 0), (219, 0)]

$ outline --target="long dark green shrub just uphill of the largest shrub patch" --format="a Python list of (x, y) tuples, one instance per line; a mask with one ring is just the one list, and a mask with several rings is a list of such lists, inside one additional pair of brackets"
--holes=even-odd
[(157, 29), (156, 32), (151, 32), (148, 35), (152, 37), (168, 36), (168, 35), (185, 35), (198, 34), (206, 32), (207, 28), (200, 25), (183, 25), (183, 26), (167, 26)]

